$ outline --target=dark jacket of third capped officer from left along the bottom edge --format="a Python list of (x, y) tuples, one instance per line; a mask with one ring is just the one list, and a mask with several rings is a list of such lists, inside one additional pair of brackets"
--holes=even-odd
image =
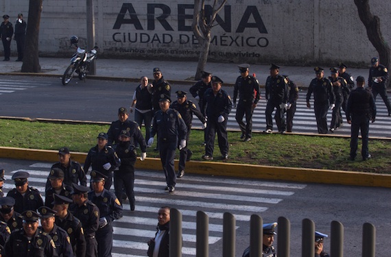
[(65, 230), (71, 238), (73, 254), (76, 257), (86, 256), (86, 238), (80, 219), (74, 217), (71, 212), (64, 219), (56, 217), (56, 225)]

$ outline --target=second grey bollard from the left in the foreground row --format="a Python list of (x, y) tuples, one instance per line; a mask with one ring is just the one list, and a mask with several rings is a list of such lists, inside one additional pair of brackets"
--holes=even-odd
[(197, 212), (197, 230), (195, 242), (195, 257), (209, 256), (209, 217), (205, 212)]

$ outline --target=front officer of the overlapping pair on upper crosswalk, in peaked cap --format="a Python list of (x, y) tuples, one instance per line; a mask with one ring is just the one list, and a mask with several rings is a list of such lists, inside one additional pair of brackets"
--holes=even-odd
[(276, 64), (270, 64), (270, 76), (266, 79), (265, 97), (268, 103), (266, 104), (265, 118), (266, 130), (265, 133), (273, 132), (272, 112), (274, 108), (276, 113), (274, 119), (280, 133), (285, 133), (285, 109), (287, 108), (287, 101), (289, 97), (288, 86), (282, 75), (279, 74), (280, 67)]

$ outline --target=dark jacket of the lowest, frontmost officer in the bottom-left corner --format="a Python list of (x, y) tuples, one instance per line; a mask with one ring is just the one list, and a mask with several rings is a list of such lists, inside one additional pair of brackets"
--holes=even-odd
[(15, 230), (10, 239), (5, 243), (4, 256), (7, 257), (58, 257), (56, 245), (51, 236), (44, 233), (40, 228), (29, 240), (25, 230)]

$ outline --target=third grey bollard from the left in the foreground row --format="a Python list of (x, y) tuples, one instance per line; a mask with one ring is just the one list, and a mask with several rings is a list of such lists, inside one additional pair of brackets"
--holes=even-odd
[(224, 212), (223, 257), (235, 257), (235, 236), (235, 217), (229, 212)]

